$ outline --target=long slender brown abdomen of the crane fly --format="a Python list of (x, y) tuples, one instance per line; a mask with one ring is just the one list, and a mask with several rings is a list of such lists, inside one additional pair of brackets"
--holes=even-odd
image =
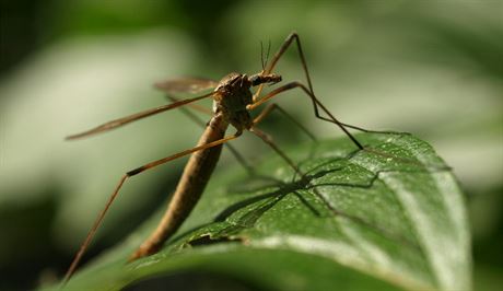
[[(198, 146), (222, 139), (227, 127), (229, 124), (224, 120), (223, 115), (213, 116), (199, 139)], [(221, 152), (222, 144), (219, 144), (190, 155), (164, 217), (150, 237), (131, 255), (130, 260), (156, 253), (163, 243), (178, 230), (201, 197)]]

